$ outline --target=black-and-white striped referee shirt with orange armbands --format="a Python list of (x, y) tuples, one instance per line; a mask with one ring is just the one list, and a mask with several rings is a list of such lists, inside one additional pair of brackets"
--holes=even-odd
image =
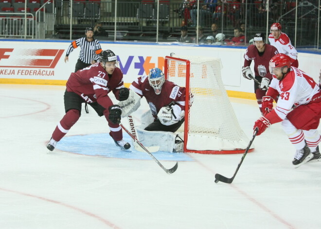
[(99, 54), (102, 52), (102, 47), (98, 40), (93, 39), (92, 41), (88, 41), (86, 37), (74, 40), (68, 47), (66, 56), (69, 56), (69, 54), (78, 47), (80, 47), (79, 59), (82, 62), (90, 64), (92, 60), (95, 60), (96, 62), (99, 60)]

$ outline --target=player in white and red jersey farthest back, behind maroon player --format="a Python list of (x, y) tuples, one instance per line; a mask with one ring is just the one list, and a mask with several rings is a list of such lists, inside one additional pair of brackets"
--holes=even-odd
[(298, 68), (298, 52), (292, 46), (290, 38), (281, 32), (282, 26), (280, 23), (273, 23), (270, 28), (270, 35), (268, 36), (268, 41), (271, 45), (278, 49), (279, 53), (284, 53), (287, 55), (291, 61), (291, 66)]

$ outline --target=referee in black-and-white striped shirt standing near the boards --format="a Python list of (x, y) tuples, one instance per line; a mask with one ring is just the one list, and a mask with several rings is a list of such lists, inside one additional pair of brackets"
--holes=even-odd
[(93, 29), (91, 27), (85, 29), (85, 35), (86, 37), (72, 41), (66, 53), (65, 63), (69, 60), (69, 54), (80, 47), (75, 72), (96, 63), (99, 60), (99, 54), (102, 52), (99, 41), (93, 38)]

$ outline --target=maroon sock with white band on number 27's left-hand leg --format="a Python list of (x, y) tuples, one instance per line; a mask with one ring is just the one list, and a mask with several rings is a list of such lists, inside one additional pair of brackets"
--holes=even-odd
[(62, 120), (58, 123), (54, 129), (53, 139), (60, 141), (70, 130), (71, 126), (78, 121), (80, 117), (79, 110), (71, 109), (67, 111)]

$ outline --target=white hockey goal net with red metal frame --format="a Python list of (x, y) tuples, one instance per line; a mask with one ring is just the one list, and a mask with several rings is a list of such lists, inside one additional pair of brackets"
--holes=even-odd
[[(178, 130), (184, 132), (184, 152), (242, 153), (250, 141), (240, 128), (227, 96), (221, 79), (222, 68), (217, 58), (165, 57), (166, 79), (189, 88), (189, 94), (193, 94), (193, 104), (185, 114), (185, 128)], [(187, 100), (190, 104), (191, 96)]]

